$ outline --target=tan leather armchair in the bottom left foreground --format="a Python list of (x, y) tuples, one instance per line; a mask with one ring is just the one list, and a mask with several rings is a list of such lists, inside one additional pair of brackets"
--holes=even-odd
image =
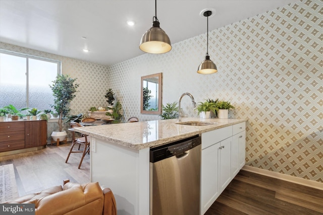
[(35, 215), (117, 215), (116, 200), (110, 188), (94, 183), (66, 183), (38, 193), (2, 203), (34, 203)]

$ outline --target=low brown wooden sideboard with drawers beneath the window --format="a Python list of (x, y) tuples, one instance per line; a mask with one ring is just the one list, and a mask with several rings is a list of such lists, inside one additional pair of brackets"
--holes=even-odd
[(43, 149), (46, 144), (46, 120), (0, 122), (0, 156)]

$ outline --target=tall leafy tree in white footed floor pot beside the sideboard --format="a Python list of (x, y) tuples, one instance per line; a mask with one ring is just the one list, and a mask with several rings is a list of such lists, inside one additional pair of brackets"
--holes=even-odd
[(54, 141), (62, 141), (67, 133), (63, 130), (63, 119), (69, 114), (70, 102), (76, 97), (76, 89), (78, 84), (74, 84), (76, 79), (72, 79), (68, 75), (57, 75), (52, 85), (49, 85), (52, 95), (54, 96), (54, 104), (51, 107), (59, 114), (59, 130), (53, 131), (51, 137)]

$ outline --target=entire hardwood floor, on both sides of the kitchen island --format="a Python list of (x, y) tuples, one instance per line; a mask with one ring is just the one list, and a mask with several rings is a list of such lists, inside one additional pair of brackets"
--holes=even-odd
[[(0, 165), (14, 164), (19, 195), (71, 182), (90, 181), (90, 156), (81, 169), (80, 153), (71, 154), (71, 144), (0, 157)], [(117, 202), (118, 204), (118, 202)], [(210, 214), (323, 214), (323, 191), (241, 170), (207, 210)]]

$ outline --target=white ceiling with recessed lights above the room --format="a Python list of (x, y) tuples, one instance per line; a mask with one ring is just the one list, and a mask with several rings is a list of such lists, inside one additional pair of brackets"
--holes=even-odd
[[(294, 2), (158, 0), (157, 19), (174, 44), (206, 32), (203, 9), (216, 10), (209, 18), (213, 30)], [(154, 15), (153, 0), (0, 0), (0, 41), (112, 65), (145, 53), (138, 46)]]

